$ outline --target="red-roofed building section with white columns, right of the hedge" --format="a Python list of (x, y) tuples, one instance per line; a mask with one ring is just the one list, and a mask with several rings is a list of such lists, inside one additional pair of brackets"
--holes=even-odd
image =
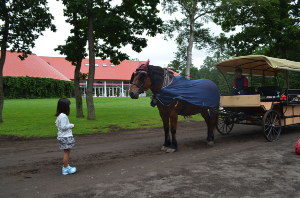
[[(63, 57), (39, 57), (67, 78), (74, 80), (75, 66), (71, 62), (65, 60)], [(82, 60), (81, 73), (88, 73), (88, 62), (88, 58)], [(138, 67), (139, 62), (145, 63), (145, 61), (124, 60), (119, 65), (114, 65), (108, 59), (95, 59), (93, 95), (96, 96), (96, 90), (98, 89), (99, 96), (106, 97), (106, 90), (108, 89), (109, 96), (116, 96), (117, 89), (119, 89), (120, 96), (124, 96), (126, 89), (130, 89), (131, 84), (129, 81), (132, 72)], [(85, 96), (86, 84), (86, 80), (80, 80), (83, 97)], [(145, 93), (140, 96), (145, 96)]]

